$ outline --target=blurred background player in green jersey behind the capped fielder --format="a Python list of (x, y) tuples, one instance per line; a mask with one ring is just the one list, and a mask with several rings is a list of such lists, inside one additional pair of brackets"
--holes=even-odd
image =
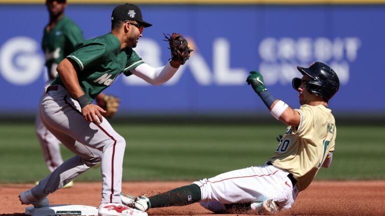
[[(84, 40), (80, 27), (64, 13), (67, 6), (66, 0), (47, 0), (46, 6), (50, 20), (44, 28), (42, 40), (48, 71), (45, 87), (49, 86), (56, 77), (56, 67), (59, 62), (74, 51), (77, 42)], [(36, 114), (35, 132), (40, 141), (46, 165), (52, 172), (63, 162), (60, 141), (44, 126), (40, 120), (39, 111)], [(72, 184), (71, 181), (66, 184), (66, 187)]]

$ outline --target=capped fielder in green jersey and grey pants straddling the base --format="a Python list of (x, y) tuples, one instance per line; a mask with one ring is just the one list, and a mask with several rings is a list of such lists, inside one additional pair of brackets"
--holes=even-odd
[(59, 75), (48, 86), (39, 106), (41, 120), (76, 155), (38, 185), (21, 192), (22, 204), (47, 206), (47, 195), (101, 162), (99, 215), (147, 215), (121, 202), (126, 142), (102, 116), (105, 110), (91, 102), (121, 73), (158, 85), (170, 79), (184, 61), (170, 60), (154, 68), (132, 49), (142, 36), (143, 28), (151, 26), (143, 20), (137, 5), (116, 6), (111, 19), (111, 32), (77, 43), (75, 51), (57, 67)]

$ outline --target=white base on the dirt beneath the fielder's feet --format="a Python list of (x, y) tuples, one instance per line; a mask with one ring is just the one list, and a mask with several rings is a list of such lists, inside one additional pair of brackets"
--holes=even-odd
[(41, 208), (34, 206), (26, 207), (25, 214), (31, 216), (59, 216), (59, 215), (82, 215), (93, 216), (98, 215), (98, 208), (88, 205), (48, 205)]

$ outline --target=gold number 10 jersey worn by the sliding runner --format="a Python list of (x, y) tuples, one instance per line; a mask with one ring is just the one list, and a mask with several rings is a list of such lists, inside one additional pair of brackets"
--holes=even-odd
[(336, 127), (331, 110), (323, 105), (302, 105), (294, 109), (300, 124), (288, 126), (271, 163), (297, 179), (301, 191), (314, 179), (328, 153), (334, 151)]

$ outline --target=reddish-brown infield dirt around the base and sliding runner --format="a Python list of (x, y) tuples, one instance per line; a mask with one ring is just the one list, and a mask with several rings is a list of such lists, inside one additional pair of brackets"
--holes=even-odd
[[(190, 182), (124, 182), (123, 192), (153, 195)], [(18, 194), (33, 184), (0, 184), (0, 215), (24, 215), (27, 205)], [(98, 206), (101, 182), (75, 182), (48, 196), (51, 204)], [(276, 215), (385, 215), (385, 180), (314, 181), (299, 193), (292, 209)], [(150, 209), (149, 215), (207, 215), (211, 211), (198, 203), (183, 207)], [(235, 214), (233, 214), (235, 215)]]

